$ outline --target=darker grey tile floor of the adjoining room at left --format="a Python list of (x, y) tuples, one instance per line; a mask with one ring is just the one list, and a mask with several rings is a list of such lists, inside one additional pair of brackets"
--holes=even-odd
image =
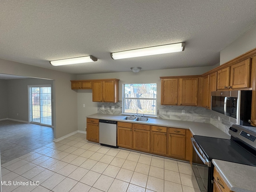
[(11, 120), (0, 121), (1, 163), (45, 146), (54, 138), (53, 128)]

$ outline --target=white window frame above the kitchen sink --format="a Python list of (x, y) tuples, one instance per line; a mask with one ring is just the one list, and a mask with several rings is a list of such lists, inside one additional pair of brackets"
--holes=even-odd
[[(130, 97), (125, 97), (125, 85), (126, 84), (156, 84), (156, 98), (130, 98)], [(148, 117), (157, 117), (157, 83), (124, 83), (122, 84), (122, 115), (134, 115), (134, 113), (130, 112), (125, 112), (125, 100), (127, 99), (134, 99), (134, 100), (155, 100), (155, 114), (144, 114), (145, 116)], [(138, 113), (141, 114), (141, 113)]]

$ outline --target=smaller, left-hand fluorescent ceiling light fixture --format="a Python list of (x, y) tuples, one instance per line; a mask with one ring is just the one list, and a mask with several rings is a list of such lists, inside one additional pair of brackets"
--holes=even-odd
[(70, 59), (50, 61), (50, 64), (52, 64), (53, 66), (60, 66), (60, 65), (70, 65), (70, 64), (76, 64), (76, 63), (87, 63), (87, 62), (93, 62), (97, 60), (98, 59), (94, 56), (85, 56), (85, 57), (76, 57), (76, 58), (70, 58)]

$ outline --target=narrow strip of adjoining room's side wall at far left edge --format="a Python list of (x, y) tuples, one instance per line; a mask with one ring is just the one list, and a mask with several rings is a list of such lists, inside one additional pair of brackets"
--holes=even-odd
[(0, 79), (0, 119), (8, 118), (7, 80)]

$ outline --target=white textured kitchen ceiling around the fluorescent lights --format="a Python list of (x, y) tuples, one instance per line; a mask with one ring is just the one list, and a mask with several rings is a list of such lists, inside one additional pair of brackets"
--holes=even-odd
[[(73, 74), (212, 66), (256, 24), (255, 0), (0, 0), (0, 58)], [(186, 42), (184, 52), (111, 52)], [(93, 55), (97, 62), (51, 66)]]

